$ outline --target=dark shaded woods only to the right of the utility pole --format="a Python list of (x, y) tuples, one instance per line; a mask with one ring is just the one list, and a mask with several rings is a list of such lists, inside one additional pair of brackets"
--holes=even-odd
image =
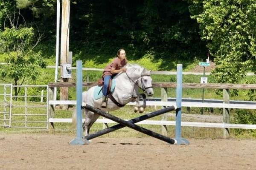
[(148, 53), (166, 64), (193, 60), (207, 50), (188, 6), (180, 0), (80, 0), (71, 4), (70, 42), (80, 41), (89, 53), (125, 47), (133, 59)]

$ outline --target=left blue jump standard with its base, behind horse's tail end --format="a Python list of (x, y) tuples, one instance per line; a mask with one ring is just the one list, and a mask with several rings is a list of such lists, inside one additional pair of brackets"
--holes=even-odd
[(76, 61), (76, 138), (70, 141), (69, 144), (84, 145), (89, 144), (87, 139), (82, 138), (82, 61)]

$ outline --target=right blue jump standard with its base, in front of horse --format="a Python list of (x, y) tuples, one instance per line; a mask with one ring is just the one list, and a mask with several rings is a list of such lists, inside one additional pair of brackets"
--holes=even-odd
[(181, 99), (182, 99), (182, 64), (177, 64), (177, 88), (176, 88), (176, 124), (175, 140), (177, 145), (189, 144), (187, 139), (181, 138)]

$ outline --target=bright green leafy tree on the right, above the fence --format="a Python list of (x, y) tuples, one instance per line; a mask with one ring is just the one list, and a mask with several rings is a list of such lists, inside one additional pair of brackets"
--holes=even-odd
[(200, 24), (217, 68), (215, 82), (238, 83), (247, 71), (256, 72), (256, 1), (189, 0), (192, 18)]

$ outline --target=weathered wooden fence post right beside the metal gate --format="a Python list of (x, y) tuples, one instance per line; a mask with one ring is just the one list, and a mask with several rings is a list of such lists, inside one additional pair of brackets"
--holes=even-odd
[[(49, 118), (54, 118), (54, 115), (55, 115), (54, 105), (49, 105), (50, 100), (54, 100), (54, 88), (48, 88), (48, 101), (47, 101), (48, 120), (49, 120)], [(54, 133), (54, 125), (52, 122), (48, 124), (48, 127), (49, 127), (49, 131), (51, 133)]]

